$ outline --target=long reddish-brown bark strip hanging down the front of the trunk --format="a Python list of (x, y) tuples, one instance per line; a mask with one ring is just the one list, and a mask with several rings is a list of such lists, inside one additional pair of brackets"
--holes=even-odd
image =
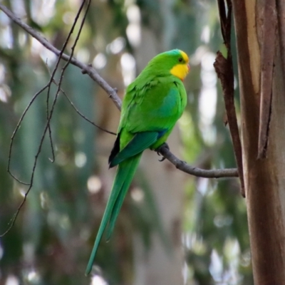
[(261, 94), (259, 106), (259, 143), (257, 158), (266, 157), (271, 118), (272, 77), (274, 71), (277, 12), (275, 0), (267, 0), (264, 9), (261, 47)]

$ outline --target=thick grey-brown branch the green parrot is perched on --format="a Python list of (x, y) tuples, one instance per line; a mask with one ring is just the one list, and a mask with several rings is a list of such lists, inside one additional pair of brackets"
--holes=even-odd
[[(43, 38), (43, 36), (41, 36), (40, 33), (33, 30), (33, 28), (31, 28), (30, 26), (26, 25), (23, 21), (21, 21), (21, 19), (17, 18), (11, 11), (9, 11), (9, 9), (6, 9), (6, 7), (3, 6), (2, 4), (0, 4), (0, 9), (2, 11), (4, 11), (4, 13), (7, 16), (9, 16), (9, 18), (12, 19), (16, 24), (21, 26), (21, 28), (23, 28), (27, 33), (29, 33), (31, 36), (33, 36), (33, 38), (36, 38), (43, 46), (48, 48), (48, 50), (52, 51), (57, 56), (61, 53), (61, 51), (59, 51), (57, 48), (55, 48), (53, 45), (51, 45), (51, 43), (49, 43), (46, 40), (46, 38)], [(61, 58), (65, 61), (68, 61), (68, 58), (70, 58), (70, 57), (63, 53)], [(82, 63), (81, 61), (78, 61), (76, 58), (71, 58), (70, 63), (72, 63), (74, 66), (78, 66), (78, 68), (81, 68), (83, 73), (87, 73), (88, 76), (90, 76), (90, 78), (92, 78), (95, 82), (97, 82), (98, 85), (101, 88), (103, 88), (103, 90), (105, 90), (106, 93), (108, 93), (111, 100), (113, 100), (113, 102), (115, 103), (117, 108), (120, 110), (121, 100), (120, 100), (118, 94), (116, 93), (115, 89), (110, 87), (109, 84), (103, 78), (101, 78), (99, 76), (98, 72), (95, 71), (95, 69), (92, 66), (85, 64), (85, 63)], [(172, 162), (174, 165), (177, 164), (177, 160), (179, 160), (174, 155), (172, 157), (172, 153), (170, 152), (170, 150), (167, 150), (166, 148), (163, 148), (163, 155), (165, 155), (165, 156), (167, 155), (167, 160), (170, 160), (170, 162)], [(181, 162), (181, 165), (185, 164), (185, 162), (183, 162), (182, 160), (179, 160), (179, 161)], [(212, 172), (211, 177), (213, 177), (213, 178), (214, 177), (218, 178), (218, 177), (237, 177), (238, 176), (236, 169), (230, 169), (230, 171), (232, 171), (232, 176), (231, 176), (231, 175), (229, 175), (229, 171), (227, 169), (225, 169), (225, 170), (202, 170), (199, 168), (191, 167), (190, 165), (188, 165), (188, 166), (192, 170), (189, 169), (189, 171), (187, 171), (187, 173), (189, 173), (191, 175), (195, 175), (197, 177), (201, 177), (201, 175), (207, 175), (206, 173), (208, 173), (208, 172)], [(185, 172), (185, 167), (177, 167), (177, 169)], [(224, 173), (224, 175), (223, 175), (223, 173)], [(203, 177), (209, 177), (209, 176), (203, 176)]]

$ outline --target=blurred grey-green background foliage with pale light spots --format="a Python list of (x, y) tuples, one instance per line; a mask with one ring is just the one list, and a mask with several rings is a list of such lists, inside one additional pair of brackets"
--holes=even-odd
[[(3, 3), (60, 49), (80, 1)], [(112, 69), (123, 69), (119, 63), (125, 54), (136, 59), (128, 34), (134, 7), (140, 12), (140, 26), (159, 39), (159, 51), (180, 48), (192, 58), (192, 72), (185, 81), (189, 104), (180, 120), (183, 159), (206, 169), (234, 167), (232, 142), (223, 123), (221, 88), (212, 67), (215, 52), (223, 48), (214, 0), (93, 0), (76, 57), (93, 62), (105, 79), (117, 86), (118, 81), (110, 76)], [(73, 33), (73, 40), (75, 36)], [(70, 48), (71, 44), (68, 51)], [(48, 82), (55, 60), (0, 11), (1, 233), (27, 190), (6, 172), (10, 138), (28, 102)], [(98, 117), (102, 111), (97, 104), (99, 88), (88, 76), (69, 66), (62, 88), (81, 113), (90, 120)], [(55, 90), (53, 86), (50, 102)], [(239, 110), (238, 106), (237, 97)], [(14, 140), (11, 172), (24, 182), (30, 180), (45, 123), (46, 91), (31, 105)], [(52, 152), (46, 137), (26, 204), (11, 231), (0, 238), (0, 284), (10, 284), (11, 280), (14, 284), (90, 284), (90, 279), (83, 278), (83, 271), (103, 212), (104, 184), (92, 194), (87, 182), (90, 177), (98, 182), (102, 146), (96, 144), (100, 132), (83, 120), (62, 94), (51, 130), (56, 160), (49, 160)], [(143, 175), (138, 176), (140, 185), (147, 185)], [(118, 221), (122, 234), (108, 244), (102, 243), (98, 250), (96, 263), (103, 269), (98, 268), (98, 276), (102, 274), (108, 284), (132, 283), (130, 234), (140, 232), (147, 246), (149, 232), (159, 224), (159, 219), (153, 220), (150, 215), (156, 213), (151, 191), (146, 193), (149, 204), (139, 206), (128, 197)], [(185, 284), (253, 284), (246, 206), (239, 195), (238, 181), (187, 177), (184, 212)], [(120, 250), (115, 251), (118, 244)], [(93, 279), (93, 284), (103, 283)]]

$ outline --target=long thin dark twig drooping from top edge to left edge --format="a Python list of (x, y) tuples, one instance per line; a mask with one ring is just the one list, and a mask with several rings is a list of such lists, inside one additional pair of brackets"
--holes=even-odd
[[(70, 37), (71, 37), (71, 33), (73, 33), (74, 27), (76, 26), (76, 23), (77, 23), (77, 21), (78, 21), (79, 15), (81, 14), (81, 11), (82, 11), (82, 9), (83, 9), (83, 6), (84, 6), (85, 2), (86, 2), (85, 0), (82, 2), (81, 7), (80, 7), (80, 9), (78, 10), (78, 14), (76, 15), (76, 19), (75, 19), (74, 22), (73, 22), (73, 26), (71, 27), (71, 31), (68, 33), (68, 36), (67, 36), (67, 38), (66, 38), (66, 41), (65, 41), (65, 43), (63, 44), (63, 48), (61, 49), (60, 55), (59, 55), (59, 57), (58, 57), (58, 62), (57, 62), (57, 64), (56, 64), (56, 68), (57, 68), (57, 66), (58, 66), (59, 61), (61, 60), (61, 54), (63, 53), (64, 49), (66, 48), (67, 43), (68, 43), (68, 41), (69, 41), (69, 39), (70, 39)], [(54, 107), (55, 107), (55, 105), (56, 105), (56, 100), (57, 100), (57, 98), (58, 98), (58, 94), (60, 93), (61, 83), (62, 83), (62, 80), (63, 80), (63, 73), (66, 71), (66, 68), (68, 67), (69, 63), (71, 62), (71, 58), (72, 58), (72, 56), (73, 56), (74, 48), (76, 47), (76, 43), (77, 43), (78, 38), (79, 38), (79, 35), (80, 35), (81, 31), (82, 31), (83, 24), (84, 24), (84, 21), (85, 21), (85, 19), (86, 19), (86, 15), (87, 15), (87, 11), (88, 11), (88, 9), (89, 9), (89, 6), (90, 6), (90, 0), (88, 1), (87, 8), (86, 8), (86, 13), (84, 14), (83, 20), (81, 21), (81, 27), (80, 27), (80, 29), (79, 29), (79, 31), (78, 31), (78, 35), (76, 36), (76, 41), (73, 43), (73, 46), (72, 46), (72, 48), (71, 48), (71, 56), (70, 56), (69, 60), (67, 61), (66, 65), (63, 66), (63, 68), (61, 69), (61, 77), (60, 77), (59, 82), (58, 82), (58, 89), (56, 90), (56, 96), (55, 96), (55, 98), (53, 99), (53, 104), (52, 104), (52, 106), (51, 106), (51, 112), (50, 112), (49, 115), (48, 115), (48, 120), (47, 120), (47, 122), (46, 122), (46, 127), (45, 127), (45, 129), (43, 130), (43, 135), (41, 136), (41, 142), (40, 142), (40, 144), (38, 145), (38, 151), (36, 152), (35, 160), (34, 160), (34, 162), (33, 162), (33, 170), (32, 170), (32, 172), (31, 172), (31, 180), (30, 180), (30, 183), (29, 183), (28, 190), (26, 191), (26, 193), (25, 193), (25, 195), (24, 195), (24, 199), (22, 200), (21, 204), (19, 205), (18, 209), (16, 210), (16, 213), (14, 214), (14, 217), (12, 217), (11, 221), (9, 222), (9, 227), (8, 227), (8, 229), (6, 229), (6, 231), (4, 232), (4, 234), (1, 234), (0, 237), (3, 237), (3, 236), (4, 236), (7, 232), (9, 232), (9, 230), (14, 226), (14, 223), (16, 222), (16, 218), (18, 217), (19, 212), (20, 212), (20, 210), (21, 210), (21, 207), (23, 207), (24, 203), (26, 202), (26, 198), (27, 198), (27, 196), (28, 196), (28, 193), (30, 192), (31, 187), (33, 187), (33, 175), (34, 175), (35, 170), (36, 170), (36, 164), (37, 164), (37, 162), (38, 162), (38, 156), (39, 156), (40, 153), (41, 153), (41, 147), (43, 146), (43, 140), (44, 140), (44, 138), (45, 138), (45, 136), (46, 136), (46, 132), (47, 132), (47, 130), (48, 130), (48, 126), (49, 126), (49, 124), (50, 124), (50, 122), (51, 122), (51, 118), (52, 118), (52, 115), (53, 115), (53, 110), (54, 110)], [(55, 74), (55, 71), (53, 71), (53, 75), (52, 75), (52, 76), (54, 76), (54, 74)], [(52, 83), (52, 80), (50, 80), (49, 83)], [(37, 93), (37, 94), (39, 94), (39, 93)], [(36, 96), (33, 97), (33, 100), (34, 100), (35, 98), (36, 98)], [(29, 105), (31, 105), (31, 104), (29, 104)]]

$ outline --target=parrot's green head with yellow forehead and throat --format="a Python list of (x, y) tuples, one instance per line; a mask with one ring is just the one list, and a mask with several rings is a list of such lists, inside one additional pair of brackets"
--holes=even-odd
[(157, 71), (163, 69), (173, 76), (180, 78), (182, 81), (190, 71), (189, 58), (184, 51), (180, 51), (179, 49), (158, 54), (152, 58), (149, 65), (152, 68), (156, 67)]

